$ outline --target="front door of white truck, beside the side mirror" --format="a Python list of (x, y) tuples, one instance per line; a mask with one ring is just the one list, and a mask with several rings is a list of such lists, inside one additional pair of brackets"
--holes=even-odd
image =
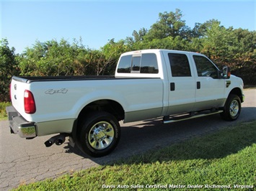
[(191, 60), (196, 67), (195, 111), (223, 106), (225, 80), (219, 78), (218, 67), (204, 55), (191, 55)]

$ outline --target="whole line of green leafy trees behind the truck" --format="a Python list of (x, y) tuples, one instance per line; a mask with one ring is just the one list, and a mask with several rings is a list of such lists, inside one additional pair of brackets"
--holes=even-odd
[(231, 67), (245, 84), (256, 84), (256, 31), (226, 28), (216, 19), (190, 28), (180, 9), (159, 13), (149, 29), (134, 30), (131, 37), (118, 41), (110, 39), (100, 50), (86, 47), (82, 39), (36, 41), (22, 54), (15, 54), (7, 39), (0, 44), (0, 101), (9, 101), (12, 75), (113, 75), (123, 52), (155, 48), (201, 52), (219, 67)]

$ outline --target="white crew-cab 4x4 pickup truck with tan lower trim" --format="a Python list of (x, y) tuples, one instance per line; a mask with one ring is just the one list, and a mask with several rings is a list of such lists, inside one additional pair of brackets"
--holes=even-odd
[(163, 117), (164, 123), (221, 113), (234, 121), (243, 81), (205, 55), (139, 50), (120, 56), (115, 76), (13, 77), (11, 132), (22, 138), (58, 134), (45, 146), (71, 145), (102, 157), (120, 139), (120, 124)]

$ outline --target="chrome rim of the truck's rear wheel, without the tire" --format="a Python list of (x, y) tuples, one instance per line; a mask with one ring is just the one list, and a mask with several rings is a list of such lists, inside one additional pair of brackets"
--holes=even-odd
[(89, 131), (89, 144), (94, 149), (106, 149), (114, 139), (115, 131), (107, 121), (100, 121)]

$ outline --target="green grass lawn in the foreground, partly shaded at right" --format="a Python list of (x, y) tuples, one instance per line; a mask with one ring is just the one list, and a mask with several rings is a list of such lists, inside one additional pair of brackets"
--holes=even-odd
[(255, 190), (256, 121), (17, 190)]

